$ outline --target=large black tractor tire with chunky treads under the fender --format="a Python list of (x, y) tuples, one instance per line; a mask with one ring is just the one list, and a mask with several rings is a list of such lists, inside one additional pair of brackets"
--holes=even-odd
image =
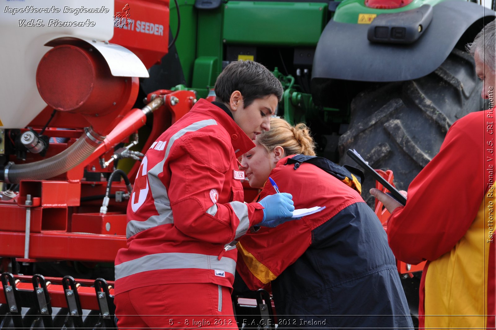
[[(396, 187), (407, 190), (439, 152), (453, 122), (483, 109), (481, 88), (473, 58), (454, 49), (425, 77), (360, 92), (351, 103), (348, 130), (339, 138), (340, 164), (356, 165), (346, 155), (355, 149), (372, 168), (393, 170)], [(374, 186), (366, 174), (362, 196), (371, 206)]]

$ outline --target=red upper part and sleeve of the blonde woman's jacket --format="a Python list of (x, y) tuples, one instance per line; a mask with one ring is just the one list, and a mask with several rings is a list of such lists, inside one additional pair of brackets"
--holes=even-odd
[[(328, 221), (344, 208), (364, 202), (360, 194), (315, 165), (302, 164), (295, 172), (293, 165), (281, 159), (270, 172), (281, 192), (293, 194), (295, 209), (325, 206), (318, 213), (289, 221), (276, 228), (260, 228), (248, 234), (238, 244), (238, 272), (250, 290), (268, 288), (289, 265), (293, 264), (311, 245), (312, 230)], [(269, 181), (260, 199), (274, 194)]]

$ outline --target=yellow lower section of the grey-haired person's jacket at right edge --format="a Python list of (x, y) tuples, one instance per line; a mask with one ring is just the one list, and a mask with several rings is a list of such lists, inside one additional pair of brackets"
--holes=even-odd
[(488, 227), (487, 219), (494, 217), (495, 206), (492, 189), (494, 185), (465, 236), (451, 251), (429, 264), (425, 281), (426, 329), (486, 327), (488, 239), (493, 229)]

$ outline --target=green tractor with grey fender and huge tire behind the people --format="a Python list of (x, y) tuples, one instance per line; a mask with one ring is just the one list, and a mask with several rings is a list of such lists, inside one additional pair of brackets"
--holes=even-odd
[[(484, 109), (465, 47), (495, 14), (463, 0), (175, 0), (175, 44), (141, 86), (206, 97), (231, 61), (260, 62), (285, 88), (277, 114), (305, 121), (319, 156), (354, 165), (356, 149), (406, 190), (451, 124)], [(404, 275), (414, 321), (419, 282)]]

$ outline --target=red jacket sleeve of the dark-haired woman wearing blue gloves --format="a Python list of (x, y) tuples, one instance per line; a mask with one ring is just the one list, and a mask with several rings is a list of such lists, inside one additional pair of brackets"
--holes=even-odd
[[(232, 176), (234, 153), (230, 149), (232, 146), (215, 134), (196, 134), (174, 151), (168, 193), (174, 225), (183, 234), (228, 244), (262, 220), (263, 207), (244, 203), (241, 186), (226, 181)], [(212, 195), (213, 191), (217, 195)]]

